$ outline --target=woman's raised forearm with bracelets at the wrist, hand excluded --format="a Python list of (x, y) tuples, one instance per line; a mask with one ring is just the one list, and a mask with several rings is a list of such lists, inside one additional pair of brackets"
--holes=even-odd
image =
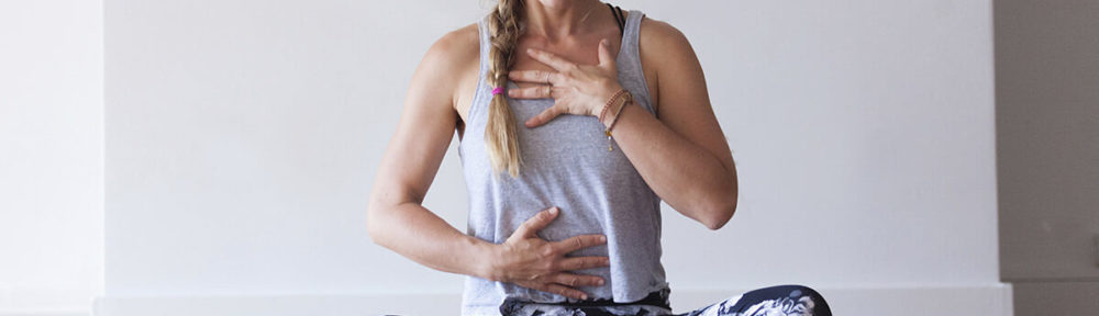
[[(636, 103), (619, 111), (612, 135), (645, 182), (676, 211), (711, 229), (736, 207), (736, 171)], [(603, 120), (604, 126), (614, 116)]]

